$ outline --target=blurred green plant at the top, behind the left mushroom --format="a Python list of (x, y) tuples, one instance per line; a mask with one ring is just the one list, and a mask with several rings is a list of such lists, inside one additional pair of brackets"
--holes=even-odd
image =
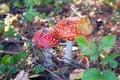
[(34, 6), (40, 6), (42, 3), (47, 5), (51, 2), (51, 0), (24, 0), (25, 6), (28, 8), (26, 13), (24, 14), (23, 22), (29, 22), (34, 19), (35, 16), (39, 16), (40, 18), (45, 18), (45, 13), (39, 13), (34, 9)]

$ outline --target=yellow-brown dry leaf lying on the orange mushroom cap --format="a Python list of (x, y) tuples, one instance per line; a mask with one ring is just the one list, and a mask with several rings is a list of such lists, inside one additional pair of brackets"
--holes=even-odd
[(78, 30), (83, 34), (91, 34), (94, 27), (91, 24), (89, 18), (84, 16), (78, 23)]

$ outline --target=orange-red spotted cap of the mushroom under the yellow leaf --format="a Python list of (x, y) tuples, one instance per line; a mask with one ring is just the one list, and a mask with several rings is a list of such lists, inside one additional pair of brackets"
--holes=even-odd
[(77, 17), (60, 20), (55, 26), (55, 30), (58, 36), (70, 41), (75, 40), (75, 37), (77, 36), (81, 36), (82, 34), (80, 33), (77, 27), (79, 21), (80, 18)]

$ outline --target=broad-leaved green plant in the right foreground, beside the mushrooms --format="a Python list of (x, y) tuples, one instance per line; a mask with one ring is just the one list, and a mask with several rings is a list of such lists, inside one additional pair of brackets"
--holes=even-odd
[[(91, 61), (97, 61), (98, 59), (101, 59), (103, 67), (107, 64), (110, 64), (110, 67), (112, 68), (117, 67), (117, 61), (115, 61), (115, 58), (120, 55), (117, 53), (110, 54), (111, 48), (113, 48), (115, 45), (116, 36), (105, 36), (101, 40), (94, 40), (90, 42), (88, 42), (85, 37), (77, 37), (76, 41), (81, 49), (82, 54), (89, 56)], [(103, 55), (103, 53), (106, 55)], [(102, 55), (104, 57), (102, 57)], [(109, 69), (104, 70), (104, 68), (102, 71), (97, 68), (91, 68), (85, 71), (82, 80), (88, 80), (88, 78), (89, 80), (118, 80), (114, 72), (110, 71)]]

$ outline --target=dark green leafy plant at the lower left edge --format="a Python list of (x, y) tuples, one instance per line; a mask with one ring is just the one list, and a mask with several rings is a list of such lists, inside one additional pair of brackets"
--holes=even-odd
[[(20, 65), (23, 64), (28, 56), (28, 51), (23, 51), (13, 56), (5, 55), (0, 63), (0, 76), (7, 77), (19, 71)], [(22, 60), (22, 61), (21, 61)]]

